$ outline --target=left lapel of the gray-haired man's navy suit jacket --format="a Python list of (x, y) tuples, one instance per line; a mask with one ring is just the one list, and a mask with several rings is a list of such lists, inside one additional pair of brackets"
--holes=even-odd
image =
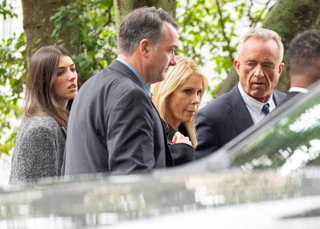
[(251, 115), (241, 97), (237, 84), (230, 90), (227, 103), (229, 105), (228, 115), (238, 133), (253, 125)]

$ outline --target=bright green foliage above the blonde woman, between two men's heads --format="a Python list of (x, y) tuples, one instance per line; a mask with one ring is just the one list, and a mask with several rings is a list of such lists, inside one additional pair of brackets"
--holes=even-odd
[(263, 21), (265, 10), (266, 7), (252, 10), (249, 0), (177, 1), (176, 19), (181, 27), (179, 53), (193, 58), (199, 65), (212, 63), (212, 75), (208, 78), (217, 79), (217, 85), (209, 89), (212, 96), (236, 57), (239, 40), (236, 20), (248, 21), (241, 26), (254, 27)]

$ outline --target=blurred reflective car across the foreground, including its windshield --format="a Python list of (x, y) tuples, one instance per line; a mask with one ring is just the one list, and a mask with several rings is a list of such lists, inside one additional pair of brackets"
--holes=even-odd
[(320, 84), (201, 160), (2, 187), (0, 228), (319, 228)]

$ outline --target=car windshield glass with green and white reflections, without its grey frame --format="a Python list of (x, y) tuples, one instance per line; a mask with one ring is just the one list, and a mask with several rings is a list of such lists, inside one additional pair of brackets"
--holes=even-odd
[(244, 170), (279, 168), (286, 175), (307, 164), (320, 164), (320, 90), (316, 88), (301, 99), (301, 105), (292, 107), (296, 103), (292, 100), (275, 110), (278, 118), (261, 123), (257, 133), (243, 140), (245, 146), (232, 154), (233, 165)]

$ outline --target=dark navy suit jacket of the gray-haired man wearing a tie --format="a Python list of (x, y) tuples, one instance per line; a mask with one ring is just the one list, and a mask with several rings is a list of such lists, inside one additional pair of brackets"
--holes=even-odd
[[(273, 90), (275, 105), (285, 93)], [(217, 97), (199, 109), (195, 118), (198, 146), (196, 158), (208, 155), (253, 125), (252, 118), (237, 88)]]

